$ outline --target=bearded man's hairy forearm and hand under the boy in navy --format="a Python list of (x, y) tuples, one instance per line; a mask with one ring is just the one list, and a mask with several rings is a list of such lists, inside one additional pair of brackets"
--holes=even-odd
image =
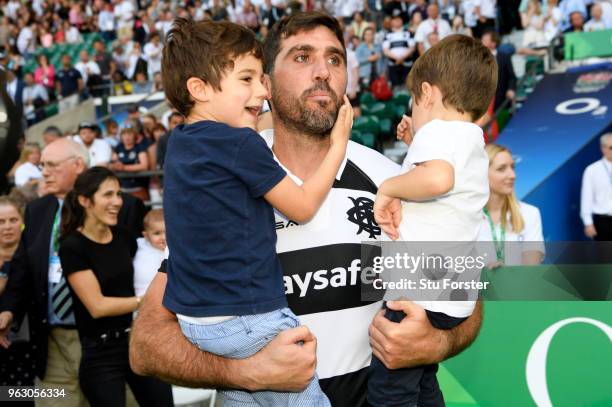
[[(281, 332), (247, 359), (201, 351), (162, 305), (166, 279), (165, 273), (157, 273), (134, 321), (130, 338), (134, 372), (189, 387), (301, 391), (308, 385), (316, 365), (316, 339), (308, 328)], [(304, 345), (298, 345), (299, 341)]]

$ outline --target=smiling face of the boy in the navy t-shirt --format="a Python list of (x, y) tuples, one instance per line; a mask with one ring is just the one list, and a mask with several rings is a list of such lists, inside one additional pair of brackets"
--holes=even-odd
[(234, 69), (221, 79), (221, 91), (212, 90), (208, 113), (215, 121), (232, 127), (257, 128), (268, 89), (264, 85), (261, 61), (252, 55), (234, 60)]

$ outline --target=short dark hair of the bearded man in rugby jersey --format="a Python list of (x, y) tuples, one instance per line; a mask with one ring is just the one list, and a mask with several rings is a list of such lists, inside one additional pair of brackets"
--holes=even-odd
[(274, 61), (281, 48), (281, 42), (293, 35), (304, 31), (312, 31), (319, 27), (327, 27), (338, 39), (344, 51), (346, 61), (346, 49), (344, 48), (344, 34), (338, 20), (329, 14), (320, 11), (296, 13), (285, 17), (272, 27), (266, 41), (264, 42), (264, 69), (268, 75), (274, 71)]

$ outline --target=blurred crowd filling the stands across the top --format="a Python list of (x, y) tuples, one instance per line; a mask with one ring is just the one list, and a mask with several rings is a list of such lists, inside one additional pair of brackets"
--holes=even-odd
[[(89, 96), (163, 90), (163, 40), (175, 17), (230, 20), (263, 38), (284, 15), (326, 10), (343, 23), (352, 51), (353, 101), (380, 75), (402, 86), (419, 54), (452, 33), (522, 29), (518, 53), (543, 55), (560, 33), (612, 27), (610, 0), (3, 0), (0, 9), (0, 64), (28, 124), (53, 114), (44, 107), (58, 100), (65, 111)], [(91, 35), (91, 46), (57, 51)], [(50, 61), (45, 50), (61, 55)]]

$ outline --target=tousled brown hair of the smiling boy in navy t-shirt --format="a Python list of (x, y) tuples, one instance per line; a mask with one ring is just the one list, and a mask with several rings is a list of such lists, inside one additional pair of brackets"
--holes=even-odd
[(262, 59), (261, 43), (250, 29), (226, 21), (177, 18), (166, 37), (162, 81), (170, 103), (188, 116), (194, 105), (189, 78), (200, 78), (221, 91), (221, 79), (242, 55)]

